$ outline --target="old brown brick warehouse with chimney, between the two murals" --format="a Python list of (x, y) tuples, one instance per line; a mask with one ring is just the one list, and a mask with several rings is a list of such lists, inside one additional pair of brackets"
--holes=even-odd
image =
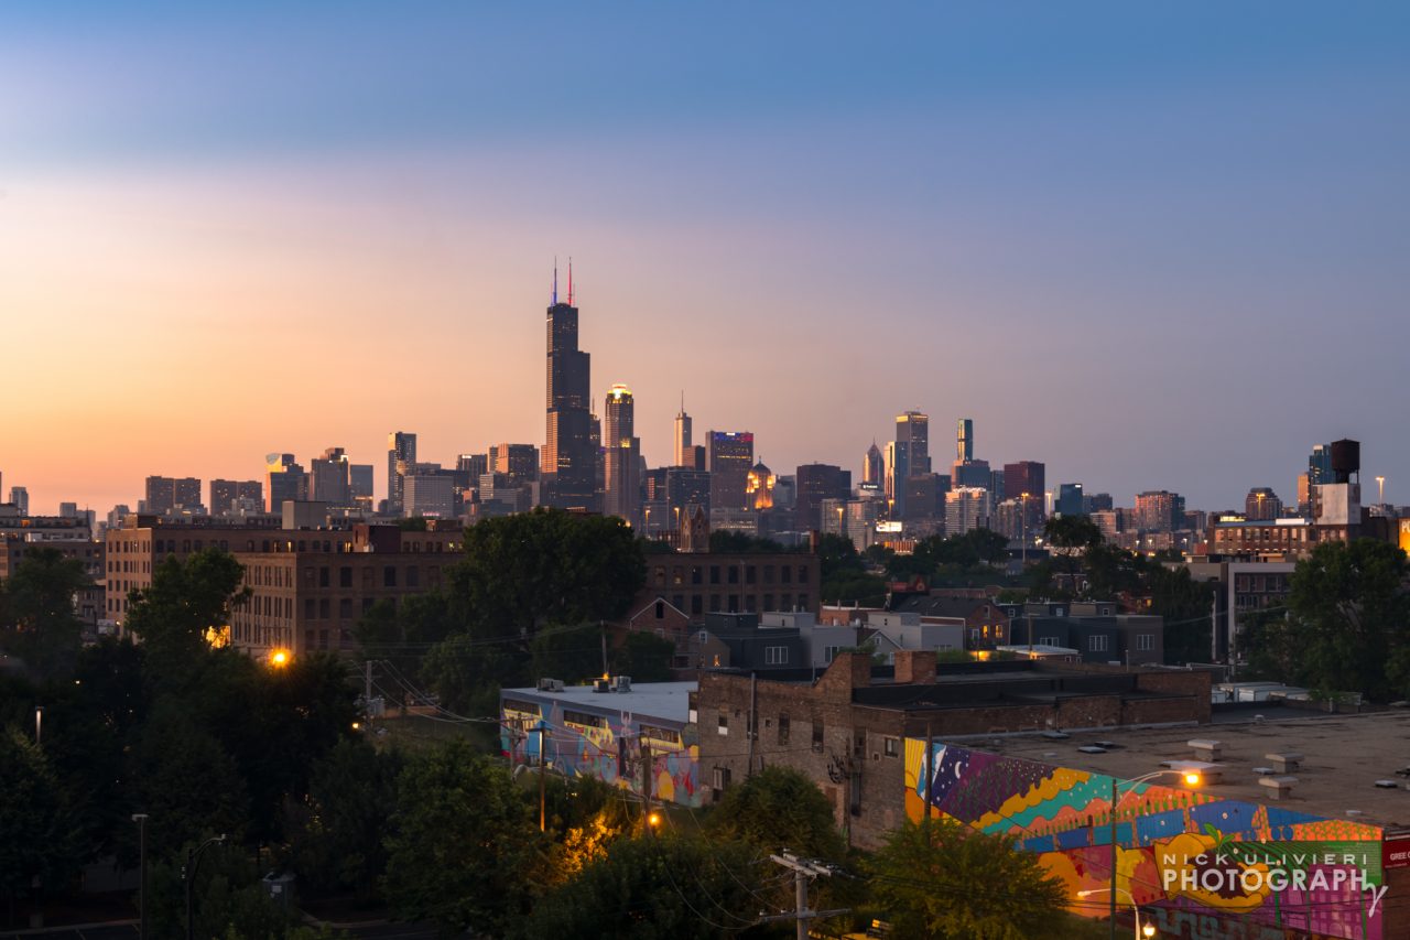
[[(749, 769), (794, 766), (828, 796), (850, 843), (880, 845), (905, 820), (904, 741), (1058, 728), (1204, 724), (1210, 675), (1034, 661), (936, 673), (929, 651), (898, 651), (873, 680), (869, 656), (838, 653), (816, 680), (702, 672), (695, 699), (705, 800)], [(750, 730), (754, 730), (750, 740)]]

